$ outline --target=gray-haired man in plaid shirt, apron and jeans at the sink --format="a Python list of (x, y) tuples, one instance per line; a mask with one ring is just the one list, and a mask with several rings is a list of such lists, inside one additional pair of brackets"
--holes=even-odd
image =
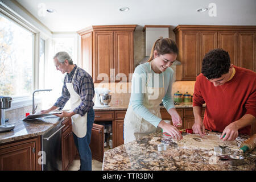
[(67, 73), (64, 78), (62, 95), (55, 104), (41, 113), (49, 113), (52, 110), (62, 109), (69, 98), (71, 99), (70, 113), (63, 111), (55, 114), (58, 117), (71, 117), (72, 131), (77, 150), (80, 155), (80, 170), (92, 170), (92, 152), (89, 143), (94, 122), (93, 97), (94, 84), (92, 77), (84, 69), (73, 64), (67, 52), (58, 52), (53, 57), (57, 70)]

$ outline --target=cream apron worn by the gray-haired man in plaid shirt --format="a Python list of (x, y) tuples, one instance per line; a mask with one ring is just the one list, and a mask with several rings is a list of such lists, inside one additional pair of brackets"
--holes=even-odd
[[(76, 68), (76, 71), (77, 71), (77, 68)], [(74, 74), (73, 78), (76, 75), (76, 71), (75, 71), (75, 74)], [(82, 102), (79, 94), (77, 94), (76, 91), (73, 88), (73, 84), (72, 84), (73, 78), (72, 78), (71, 83), (66, 82), (67, 89), (68, 89), (68, 92), (70, 94), (70, 101), (71, 101), (71, 109), (72, 110), (76, 109), (76, 107), (78, 107)], [(81, 116), (80, 114), (72, 115), (71, 119), (72, 119), (72, 131), (73, 131), (73, 133), (75, 133), (75, 135), (79, 138), (85, 137), (86, 131), (87, 131), (87, 113), (83, 116)]]

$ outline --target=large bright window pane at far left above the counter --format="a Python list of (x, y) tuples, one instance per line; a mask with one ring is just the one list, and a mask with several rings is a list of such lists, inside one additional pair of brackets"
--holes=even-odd
[(0, 95), (32, 93), (34, 34), (0, 14)]

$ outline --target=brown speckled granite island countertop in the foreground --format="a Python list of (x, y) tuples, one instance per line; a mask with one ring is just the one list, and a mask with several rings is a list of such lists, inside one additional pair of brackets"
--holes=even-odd
[[(221, 135), (205, 131), (205, 134)], [(237, 146), (249, 138), (240, 135)], [(158, 151), (158, 144), (168, 143), (166, 151)], [(233, 155), (242, 155), (244, 162), (240, 166), (217, 160), (213, 150), (177, 146), (174, 140), (166, 138), (162, 133), (152, 133), (133, 142), (122, 144), (112, 150), (105, 151), (102, 170), (151, 170), (151, 171), (228, 171), (255, 170), (256, 149), (250, 153), (240, 154), (232, 150)]]

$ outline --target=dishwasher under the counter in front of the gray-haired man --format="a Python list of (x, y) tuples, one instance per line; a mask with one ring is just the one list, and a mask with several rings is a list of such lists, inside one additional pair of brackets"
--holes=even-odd
[(62, 171), (61, 122), (42, 135), (42, 170)]

